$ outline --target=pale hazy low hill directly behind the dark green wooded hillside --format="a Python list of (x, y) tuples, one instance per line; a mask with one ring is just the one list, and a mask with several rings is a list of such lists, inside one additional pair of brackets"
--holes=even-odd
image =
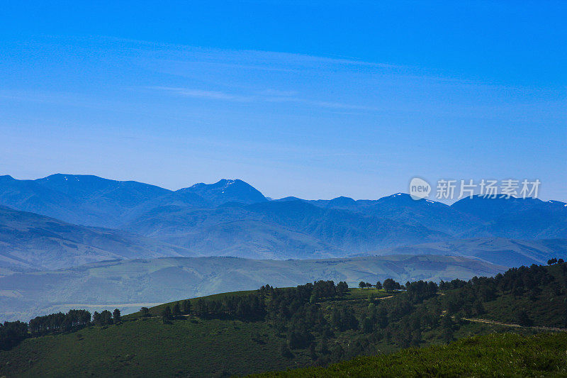
[(464, 257), (386, 256), (332, 260), (247, 260), (230, 257), (159, 258), (99, 262), (72, 269), (0, 277), (0, 321), (28, 319), (69, 308), (120, 308), (123, 313), (180, 298), (264, 284), (290, 287), (318, 279), (400, 282), (469, 279), (505, 268)]

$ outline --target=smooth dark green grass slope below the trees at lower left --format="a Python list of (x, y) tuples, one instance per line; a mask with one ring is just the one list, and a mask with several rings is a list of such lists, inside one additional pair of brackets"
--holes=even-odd
[[(257, 337), (259, 335), (259, 338)], [(0, 355), (0, 373), (17, 377), (202, 377), (306, 366), (279, 352), (266, 323), (158, 318), (24, 340)], [(0, 374), (0, 375), (1, 375)]]

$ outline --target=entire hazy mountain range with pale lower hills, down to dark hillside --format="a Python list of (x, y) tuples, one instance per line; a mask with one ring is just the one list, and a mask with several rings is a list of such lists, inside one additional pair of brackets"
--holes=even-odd
[(559, 201), (274, 200), (239, 179), (172, 191), (91, 175), (0, 177), (6, 319), (134, 311), (266, 283), (470, 278), (566, 255)]

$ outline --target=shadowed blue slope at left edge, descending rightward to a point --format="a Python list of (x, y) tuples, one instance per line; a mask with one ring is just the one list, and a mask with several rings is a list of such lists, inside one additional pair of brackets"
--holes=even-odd
[(102, 260), (195, 255), (125, 231), (76, 226), (0, 206), (0, 274)]

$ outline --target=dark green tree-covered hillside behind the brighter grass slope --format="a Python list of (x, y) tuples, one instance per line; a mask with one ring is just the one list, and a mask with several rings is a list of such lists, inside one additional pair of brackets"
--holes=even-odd
[[(256, 291), (143, 308), (128, 316), (106, 311), (96, 314), (94, 321), (88, 321), (90, 314), (87, 316), (85, 311), (69, 311), (35, 318), (30, 321), (29, 329), (27, 323), (4, 323), (0, 335), (16, 330), (22, 338), (4, 343), (0, 375), (252, 374), (327, 366), (362, 355), (378, 354), (374, 358), (382, 361), (386, 358), (384, 354), (404, 348), (446, 345), (473, 335), (510, 331), (527, 336), (541, 332), (537, 326), (566, 328), (567, 325), (567, 264), (563, 262), (549, 267), (510, 269), (493, 278), (475, 277), (469, 282), (455, 279), (437, 285), (419, 281), (406, 282), (402, 287), (386, 280), (383, 284), (375, 283), (374, 287), (361, 282), (359, 287), (349, 289), (344, 282), (332, 281), (286, 289), (266, 285)], [(508, 345), (510, 340), (535, 340), (525, 343), (540, 340), (512, 337), (515, 336), (472, 340), (495, 340), (490, 343), (502, 345)], [(450, 348), (468, 345), (471, 356), (475, 353), (483, 356), (482, 349), (475, 351), (477, 345), (478, 348), (484, 345), (483, 341), (459, 343), (449, 349), (422, 351), (449, 353)], [(398, 352), (391, 358), (403, 359), (408, 353), (413, 352)], [(514, 354), (514, 348), (503, 353)], [(565, 348), (561, 353), (565, 354)], [(412, 365), (411, 361), (406, 365)], [(349, 363), (355, 362), (339, 366)], [(421, 365), (415, 366), (417, 369)], [(417, 369), (416, 372), (458, 374), (449, 365), (447, 374), (444, 370), (434, 370), (435, 366), (427, 365), (431, 371)], [(486, 365), (486, 369), (491, 366)], [(445, 365), (439, 365), (441, 368)], [(467, 365), (461, 368), (466, 370)], [(533, 368), (539, 372), (539, 367)], [(305, 374), (310, 372), (306, 370)], [(328, 373), (319, 369), (313, 372)]]

